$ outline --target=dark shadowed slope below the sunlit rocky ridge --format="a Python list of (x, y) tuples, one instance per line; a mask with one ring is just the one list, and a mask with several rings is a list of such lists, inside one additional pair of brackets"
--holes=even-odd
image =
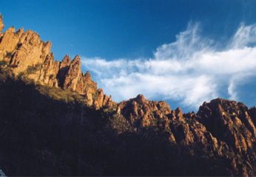
[[(73, 91), (56, 89), (54, 95), (67, 97), (54, 97), (51, 87), (8, 69), (0, 77), (0, 167), (7, 176), (243, 175), (246, 166), (234, 168), (229, 150), (220, 154), (210, 143), (173, 142), (172, 131), (159, 125), (144, 128), (106, 109), (96, 111)], [(186, 126), (177, 123), (169, 123), (173, 132), (181, 131), (176, 139)]]

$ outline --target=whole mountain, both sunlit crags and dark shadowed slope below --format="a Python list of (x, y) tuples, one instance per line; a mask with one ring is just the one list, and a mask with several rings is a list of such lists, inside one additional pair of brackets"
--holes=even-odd
[[(4, 24), (0, 14), (0, 33), (3, 28)], [(139, 159), (138, 162), (143, 162), (142, 164), (146, 164), (144, 164), (144, 168), (141, 167), (141, 165), (138, 165), (141, 167), (141, 169), (138, 169), (137, 173), (129, 173), (127, 170), (129, 167), (125, 167), (127, 162), (123, 162), (123, 160), (128, 159), (128, 161), (131, 161), (131, 164), (129, 164), (131, 166), (130, 170), (132, 170), (132, 167), (135, 168), (132, 166), (135, 159), (129, 159), (128, 157), (130, 155), (132, 158), (135, 158), (135, 155), (130, 152), (127, 156), (123, 149), (128, 150), (129, 152), (129, 147), (131, 147), (132, 150), (138, 150), (138, 152), (141, 152), (135, 147), (137, 144), (132, 144), (132, 140), (129, 139), (129, 137), (133, 136), (136, 136), (135, 139), (141, 139), (144, 136), (146, 136), (144, 137), (145, 139), (150, 139), (150, 137), (153, 139), (158, 139), (159, 142), (166, 145), (166, 148), (169, 145), (174, 146), (173, 149), (176, 148), (175, 146), (178, 146), (178, 149), (175, 149), (178, 150), (177, 152), (185, 152), (182, 156), (184, 159), (181, 158), (182, 160), (186, 160), (186, 158), (199, 158), (198, 161), (195, 161), (196, 163), (194, 165), (195, 168), (197, 168), (195, 169), (196, 173), (190, 173), (190, 175), (210, 176), (214, 174), (214, 170), (209, 169), (209, 173), (207, 173), (207, 169), (203, 169), (204, 166), (200, 163), (200, 161), (203, 161), (203, 158), (206, 158), (205, 156), (207, 156), (207, 158), (204, 159), (205, 162), (213, 163), (216, 166), (213, 166), (213, 169), (223, 170), (223, 173), (215, 175), (256, 175), (256, 107), (248, 108), (243, 103), (217, 98), (209, 103), (204, 102), (196, 114), (195, 112), (183, 114), (181, 108), (179, 107), (172, 110), (166, 101), (158, 102), (146, 100), (142, 94), (138, 94), (137, 97), (121, 103), (115, 103), (112, 101), (111, 96), (108, 97), (107, 94), (104, 94), (102, 89), (98, 89), (97, 83), (91, 79), (90, 72), (87, 72), (86, 74), (81, 72), (81, 59), (79, 55), (76, 55), (73, 60), (70, 60), (70, 57), (66, 55), (60, 62), (58, 60), (54, 60), (53, 53), (50, 52), (50, 47), (50, 41), (41, 41), (39, 35), (32, 30), (27, 30), (24, 32), (24, 29), (21, 28), (20, 30), (16, 31), (14, 27), (10, 27), (4, 32), (4, 34), (1, 33), (0, 35), (0, 110), (3, 113), (1, 114), (1, 126), (2, 129), (6, 131), (1, 132), (4, 135), (0, 136), (0, 139), (4, 139), (3, 141), (7, 142), (7, 145), (10, 145), (10, 147), (17, 152), (20, 150), (18, 147), (15, 147), (17, 142), (21, 143), (21, 145), (24, 145), (26, 148), (29, 148), (26, 144), (22, 144), (21, 142), (22, 139), (27, 138), (26, 136), (21, 137), (18, 140), (13, 137), (13, 134), (15, 135), (18, 132), (24, 133), (22, 128), (20, 129), (17, 124), (19, 117), (22, 117), (23, 119), (19, 119), (18, 122), (24, 126), (25, 130), (30, 130), (33, 125), (38, 127), (37, 122), (35, 122), (33, 119), (41, 122), (41, 124), (44, 125), (44, 128), (52, 127), (52, 124), (54, 124), (57, 128), (52, 128), (50, 130), (53, 134), (57, 133), (55, 136), (58, 136), (58, 141), (60, 141), (60, 144), (63, 143), (61, 142), (63, 139), (68, 139), (71, 144), (76, 145), (75, 147), (70, 147), (72, 150), (75, 149), (77, 152), (80, 152), (78, 154), (74, 152), (71, 153), (73, 156), (78, 156), (78, 162), (74, 162), (75, 164), (77, 163), (77, 166), (73, 166), (73, 164), (67, 163), (68, 158), (73, 159), (74, 161), (76, 160), (73, 156), (70, 157), (67, 155), (68, 152), (70, 152), (70, 149), (61, 146), (61, 150), (63, 150), (64, 155), (63, 157), (59, 157), (59, 155), (56, 155), (58, 152), (55, 152), (55, 147), (52, 147), (47, 143), (45, 143), (46, 147), (44, 147), (44, 145), (42, 145), (42, 147), (40, 146), (41, 142), (39, 143), (36, 137), (40, 136), (42, 139), (44, 139), (44, 141), (47, 142), (50, 141), (49, 139), (51, 139), (50, 133), (47, 133), (47, 131), (38, 127), (38, 130), (43, 131), (45, 136), (38, 130), (34, 129), (32, 137), (27, 135), (33, 139), (34, 144), (32, 143), (32, 145), (36, 146), (35, 148), (38, 148), (40, 151), (40, 153), (38, 153), (32, 150), (36, 154), (33, 155), (33, 158), (40, 156), (41, 158), (46, 158), (49, 163), (52, 163), (54, 159), (52, 159), (51, 156), (55, 156), (55, 158), (59, 159), (59, 161), (66, 163), (64, 164), (64, 167), (71, 169), (70, 172), (66, 173), (61, 173), (61, 171), (57, 170), (56, 173), (58, 175), (149, 175), (145, 172), (146, 170), (149, 170), (150, 167), (153, 167), (153, 165), (150, 166), (150, 164), (145, 162), (145, 159), (150, 157), (142, 156), (140, 154), (141, 159)], [(13, 86), (15, 87), (13, 88)], [(24, 91), (26, 97), (22, 97), (21, 91), (16, 89), (16, 87), (21, 91)], [(45, 100), (48, 100), (49, 105), (48, 103), (44, 103), (44, 109), (40, 108), (40, 104), (37, 103), (37, 100), (34, 100), (33, 97), (30, 97), (29, 93), (26, 93), (27, 90), (30, 90), (34, 95), (36, 95), (36, 97), (38, 97), (38, 100), (41, 100), (43, 103)], [(12, 99), (8, 100), (9, 97)], [(67, 97), (65, 103), (60, 101), (64, 100), (64, 97)], [(12, 100), (16, 101), (12, 103)], [(33, 104), (27, 100), (30, 100)], [(26, 106), (23, 107), (22, 104)], [(51, 108), (53, 104), (61, 105), (61, 110), (63, 109), (63, 112), (67, 115), (61, 114), (61, 110), (58, 111), (58, 106), (56, 105), (53, 106), (54, 109)], [(8, 108), (12, 108), (11, 111)], [(20, 115), (13, 113), (13, 110), (15, 109), (18, 109), (18, 113)], [(51, 120), (50, 117), (53, 116), (47, 114), (47, 111), (55, 115), (57, 120)], [(58, 114), (55, 114), (54, 111), (56, 111)], [(36, 117), (39, 117), (40, 119)], [(64, 119), (61, 119), (62, 117), (64, 117)], [(46, 120), (45, 122), (44, 119)], [(71, 123), (67, 125), (68, 121)], [(18, 132), (8, 127), (8, 123), (6, 122), (9, 122), (10, 125), (14, 124), (17, 127)], [(72, 133), (71, 135), (65, 135), (65, 132), (62, 129), (64, 129), (66, 126), (72, 130), (74, 135)], [(87, 127), (90, 131), (85, 131), (85, 134), (81, 135), (81, 132), (84, 132), (84, 128), (81, 128), (83, 126)], [(73, 130), (75, 128), (81, 132)], [(112, 131), (114, 133), (112, 133)], [(58, 134), (59, 132), (61, 132), (60, 135)], [(101, 135), (101, 132), (111, 132), (111, 136), (106, 137), (105, 135)], [(10, 136), (8, 136), (9, 133)], [(158, 134), (161, 136), (158, 137)], [(137, 137), (137, 135), (143, 136)], [(104, 142), (102, 139), (94, 139), (94, 137), (102, 138), (102, 136), (109, 142)], [(13, 144), (9, 142), (7, 138), (12, 139)], [(72, 140), (72, 138), (75, 140)], [(116, 140), (118, 142), (115, 142), (115, 138), (118, 139)], [(97, 141), (102, 141), (102, 145), (99, 145), (99, 147), (102, 147), (99, 148), (95, 145), (95, 148), (98, 149), (98, 151), (95, 153), (94, 150), (90, 149), (90, 147), (84, 145), (84, 143), (81, 142), (81, 139), (85, 139), (89, 145), (94, 145), (94, 143), (98, 143)], [(141, 141), (146, 140), (141, 139)], [(122, 145), (122, 143), (124, 143), (124, 145)], [(158, 147), (154, 147), (150, 140), (145, 142), (149, 143), (149, 147), (141, 145), (139, 140), (136, 143), (140, 145), (139, 147), (146, 148), (147, 155), (150, 154), (150, 148), (156, 150), (155, 154), (152, 154), (151, 156), (154, 158), (159, 158), (159, 161), (163, 164), (158, 164), (158, 160), (156, 159), (155, 162), (151, 163), (156, 165), (156, 167), (159, 167), (159, 169), (163, 168), (164, 172), (166, 172), (163, 172), (163, 175), (166, 176), (171, 174), (177, 176), (179, 174), (169, 172), (168, 169), (172, 169), (172, 167), (168, 167), (167, 164), (164, 164), (164, 156), (168, 154), (169, 149), (164, 151), (165, 153), (163, 155), (161, 152), (158, 152)], [(112, 144), (116, 147), (112, 147)], [(101, 154), (101, 150), (104, 149), (103, 145), (109, 148), (106, 151), (107, 153), (114, 152), (113, 156), (115, 158), (110, 158), (108, 156), (105, 157), (103, 154)], [(67, 145), (67, 147), (69, 146), (70, 145)], [(83, 150), (80, 146), (85, 147), (85, 149), (89, 150), (89, 152), (92, 154), (95, 153), (95, 156), (98, 156), (97, 154), (101, 154), (101, 156), (104, 156), (105, 159), (98, 159), (98, 162), (94, 162), (93, 158), (95, 158), (95, 156), (87, 158), (87, 156), (90, 155), (87, 153), (81, 153)], [(159, 148), (165, 148), (161, 145), (159, 146)], [(76, 149), (76, 147), (78, 147), (78, 149)], [(3, 150), (3, 152), (9, 152), (4, 147), (1, 147), (1, 150)], [(27, 149), (24, 151), (26, 150)], [(29, 150), (30, 149), (28, 149), (28, 151)], [(172, 148), (170, 150), (172, 150)], [(118, 156), (115, 156), (115, 154), (118, 153), (124, 156), (124, 159), (119, 159)], [(84, 154), (87, 154), (87, 156)], [(201, 156), (199, 154), (204, 155)], [(175, 153), (168, 156), (175, 156)], [(83, 158), (86, 159), (87, 162), (81, 164), (81, 159)], [(7, 171), (7, 175), (38, 175), (38, 171), (26, 173), (19, 169), (15, 162), (9, 161), (7, 157), (4, 157), (3, 159), (4, 162), (9, 164), (1, 164), (0, 161), (0, 165), (5, 165), (4, 171)], [(107, 163), (107, 160), (110, 159), (112, 160), (113, 164), (117, 166), (119, 165), (120, 168), (127, 173), (123, 174), (121, 171), (118, 172), (117, 168), (112, 168), (112, 165)], [(171, 160), (172, 159), (168, 159), (166, 161), (172, 162)], [(178, 162), (178, 159), (175, 160)], [(215, 164), (215, 160), (223, 163), (225, 162), (224, 167), (226, 167), (226, 169), (222, 169), (220, 165)], [(44, 160), (39, 162), (48, 163), (44, 162)], [(40, 164), (39, 162), (36, 161), (36, 164)], [(123, 162), (124, 166), (122, 166), (122, 164), (118, 164), (119, 162)], [(99, 165), (97, 169), (97, 163), (103, 164)], [(178, 164), (182, 163), (179, 162)], [(202, 167), (198, 164), (200, 164)], [(88, 173), (86, 170), (83, 172), (83, 170), (81, 170), (81, 166), (86, 170), (92, 170), (92, 173)], [(185, 172), (180, 172), (180, 174), (187, 176), (189, 175), (189, 165), (185, 165), (184, 168), (185, 167)], [(50, 169), (51, 170), (49, 173), (45, 172), (44, 174), (51, 176), (55, 174), (55, 170), (52, 168)], [(12, 170), (16, 171), (16, 173), (12, 173)], [(98, 170), (100, 173), (97, 173)], [(18, 172), (20, 172), (20, 174)], [(158, 175), (162, 173), (158, 172), (153, 174)]]

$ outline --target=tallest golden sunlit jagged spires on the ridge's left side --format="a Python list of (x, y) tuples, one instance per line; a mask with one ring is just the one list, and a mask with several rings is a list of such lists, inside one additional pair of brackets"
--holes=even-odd
[[(1, 16), (0, 32), (3, 28)], [(10, 27), (0, 35), (0, 60), (4, 60), (14, 74), (26, 74), (37, 83), (78, 91), (85, 95), (87, 105), (97, 109), (103, 105), (112, 105), (112, 97), (107, 97), (102, 89), (97, 89), (97, 83), (91, 80), (90, 73), (81, 72), (79, 55), (73, 60), (66, 55), (59, 62), (54, 60), (50, 48), (50, 41), (41, 41), (39, 35), (32, 30), (24, 32), (21, 28), (16, 31)]]

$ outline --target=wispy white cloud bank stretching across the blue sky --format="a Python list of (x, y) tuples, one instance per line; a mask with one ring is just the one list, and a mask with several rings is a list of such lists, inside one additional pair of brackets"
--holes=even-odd
[(203, 37), (200, 30), (200, 24), (189, 23), (175, 42), (159, 46), (153, 58), (81, 57), (82, 63), (118, 102), (137, 94), (179, 100), (191, 108), (223, 94), (237, 100), (237, 86), (256, 75), (256, 24), (241, 24), (222, 49), (219, 41)]

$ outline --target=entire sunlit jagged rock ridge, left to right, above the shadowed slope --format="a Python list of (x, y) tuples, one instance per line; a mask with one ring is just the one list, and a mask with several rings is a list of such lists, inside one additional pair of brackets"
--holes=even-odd
[[(0, 32), (4, 28), (1, 19), (0, 15)], [(201, 145), (201, 150), (212, 158), (223, 157), (232, 169), (230, 175), (256, 175), (256, 108), (215, 99), (203, 103), (197, 114), (183, 114), (181, 108), (172, 110), (165, 101), (149, 101), (141, 94), (114, 103), (111, 96), (97, 89), (89, 72), (81, 72), (78, 55), (73, 60), (66, 55), (59, 62), (54, 60), (50, 47), (50, 41), (41, 41), (36, 32), (10, 27), (0, 35), (0, 60), (6, 61), (5, 67), (9, 66), (16, 75), (27, 74), (38, 83), (78, 91), (85, 96), (87, 105), (104, 108), (112, 117), (120, 117), (132, 131), (155, 128), (167, 133), (169, 142)]]

